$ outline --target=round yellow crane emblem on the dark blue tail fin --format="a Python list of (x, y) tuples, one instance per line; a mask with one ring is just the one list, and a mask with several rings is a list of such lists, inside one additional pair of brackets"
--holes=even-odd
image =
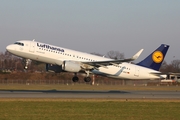
[(160, 63), (163, 60), (163, 54), (161, 51), (155, 51), (152, 55), (152, 59), (155, 63)]

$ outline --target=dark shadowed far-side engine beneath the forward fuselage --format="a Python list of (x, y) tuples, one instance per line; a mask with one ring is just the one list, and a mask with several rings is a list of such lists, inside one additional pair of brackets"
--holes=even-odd
[(60, 73), (63, 71), (62, 65), (59, 66), (59, 65), (46, 64), (46, 71)]

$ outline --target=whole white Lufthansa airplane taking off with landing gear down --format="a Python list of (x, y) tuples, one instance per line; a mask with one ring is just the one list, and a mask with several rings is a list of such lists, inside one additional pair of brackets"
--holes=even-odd
[(28, 61), (35, 60), (46, 63), (46, 69), (54, 72), (73, 72), (73, 82), (79, 80), (77, 73), (86, 74), (85, 82), (90, 82), (90, 74), (101, 75), (118, 79), (164, 79), (166, 75), (159, 69), (168, 51), (169, 45), (162, 44), (144, 60), (132, 64), (143, 49), (128, 59), (114, 60), (79, 52), (63, 47), (42, 43), (33, 40), (19, 40), (6, 47), (10, 53), (25, 58), (27, 69)]

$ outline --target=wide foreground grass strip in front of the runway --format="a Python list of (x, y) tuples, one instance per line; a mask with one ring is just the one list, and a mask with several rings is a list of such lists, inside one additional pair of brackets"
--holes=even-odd
[(0, 99), (0, 120), (179, 120), (180, 101)]

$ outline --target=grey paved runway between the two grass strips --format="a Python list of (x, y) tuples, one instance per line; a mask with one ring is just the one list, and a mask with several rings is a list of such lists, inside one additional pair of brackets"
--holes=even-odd
[(180, 99), (180, 91), (0, 90), (0, 98)]

